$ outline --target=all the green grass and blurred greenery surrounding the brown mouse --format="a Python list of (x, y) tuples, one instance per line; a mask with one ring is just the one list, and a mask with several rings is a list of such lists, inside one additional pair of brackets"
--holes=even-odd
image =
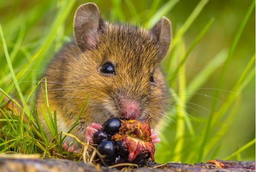
[[(149, 29), (163, 15), (172, 21), (173, 41), (162, 62), (172, 101), (159, 125), (162, 142), (156, 145), (156, 161), (255, 160), (255, 123), (245, 120), (255, 119), (255, 42), (250, 39), (255, 37), (255, 16), (251, 14), (255, 1), (223, 4), (234, 11), (243, 9), (241, 13), (212, 10), (218, 1), (149, 2), (95, 3), (102, 15), (114, 22)], [(48, 112), (34, 109), (34, 103), (47, 63), (72, 39), (74, 11), (81, 4), (0, 3), (0, 153), (40, 153), (42, 157), (80, 160), (62, 149), (61, 143), (68, 136), (57, 131), (56, 113), (48, 116), (47, 87)], [(9, 13), (8, 8), (14, 12)], [(219, 34), (222, 31), (225, 34)], [(38, 111), (43, 112), (53, 141), (47, 139)]]

